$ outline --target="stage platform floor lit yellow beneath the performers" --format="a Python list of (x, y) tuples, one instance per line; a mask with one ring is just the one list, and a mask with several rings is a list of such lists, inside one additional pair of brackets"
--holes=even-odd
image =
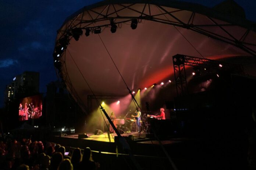
[[(103, 133), (100, 135), (95, 135), (94, 133), (87, 133), (88, 138), (78, 138), (78, 134), (70, 134), (67, 136), (53, 136), (51, 137), (50, 141), (54, 143), (58, 143), (60, 145), (64, 145), (67, 147), (73, 147), (73, 148), (86, 148), (90, 147), (94, 151), (99, 152), (116, 152), (116, 147), (120, 147), (117, 143), (115, 143), (115, 136), (117, 134), (111, 133), (110, 134), (110, 140), (107, 133)], [(139, 155), (154, 155), (154, 152), (148, 152), (151, 151), (151, 148), (157, 148), (159, 150), (159, 141), (157, 141), (155, 138), (146, 138), (146, 133), (142, 132), (141, 134), (133, 132), (133, 133), (124, 133), (121, 136), (126, 137), (127, 141), (132, 149), (134, 151), (134, 154)], [(133, 140), (131, 139), (133, 137)], [(183, 139), (173, 138), (168, 140), (161, 140), (161, 144), (164, 145), (164, 147), (169, 148), (174, 145), (178, 145), (183, 143)], [(122, 153), (122, 149), (119, 149), (120, 153)]]

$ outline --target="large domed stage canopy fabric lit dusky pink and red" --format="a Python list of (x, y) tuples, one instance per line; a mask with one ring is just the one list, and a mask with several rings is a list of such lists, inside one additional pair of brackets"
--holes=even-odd
[[(113, 25), (115, 33), (111, 33)], [(78, 41), (75, 28), (83, 32)], [(207, 59), (256, 56), (255, 30), (253, 22), (198, 4), (107, 0), (66, 19), (58, 30), (56, 48), (61, 38), (68, 37), (69, 44), (54, 62), (61, 63), (58, 73), (71, 94), (86, 104), (92, 91), (125, 96), (127, 86), (137, 90), (173, 80), (172, 56), (178, 53)]]

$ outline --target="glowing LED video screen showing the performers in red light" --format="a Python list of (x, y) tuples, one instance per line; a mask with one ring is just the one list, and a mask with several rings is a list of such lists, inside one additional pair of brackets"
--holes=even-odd
[(29, 96), (19, 102), (19, 121), (38, 119), (42, 116), (42, 96)]

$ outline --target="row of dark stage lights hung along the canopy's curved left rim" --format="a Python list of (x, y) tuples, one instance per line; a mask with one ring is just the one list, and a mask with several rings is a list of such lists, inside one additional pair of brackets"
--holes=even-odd
[[(137, 28), (138, 25), (138, 20), (137, 19), (132, 19), (131, 20), (131, 28), (134, 30)], [(117, 30), (117, 25), (114, 22), (114, 19), (110, 20), (110, 31), (111, 33), (115, 33)], [(67, 33), (67, 35), (65, 35), (63, 38), (60, 38), (60, 40), (58, 41), (58, 46), (55, 47), (55, 52), (53, 53), (53, 61), (54, 61), (54, 66), (57, 69), (61, 68), (61, 62), (60, 62), (60, 58), (62, 53), (67, 49), (68, 44), (70, 44), (70, 36), (72, 36), (76, 41), (79, 40), (80, 36), (82, 36), (83, 34), (83, 28), (74, 28), (71, 29), (71, 31), (69, 31)], [(90, 32), (93, 32), (95, 34), (99, 34), (101, 33), (101, 27), (97, 27), (97, 28), (85, 28), (85, 36), (88, 37), (90, 35)]]

